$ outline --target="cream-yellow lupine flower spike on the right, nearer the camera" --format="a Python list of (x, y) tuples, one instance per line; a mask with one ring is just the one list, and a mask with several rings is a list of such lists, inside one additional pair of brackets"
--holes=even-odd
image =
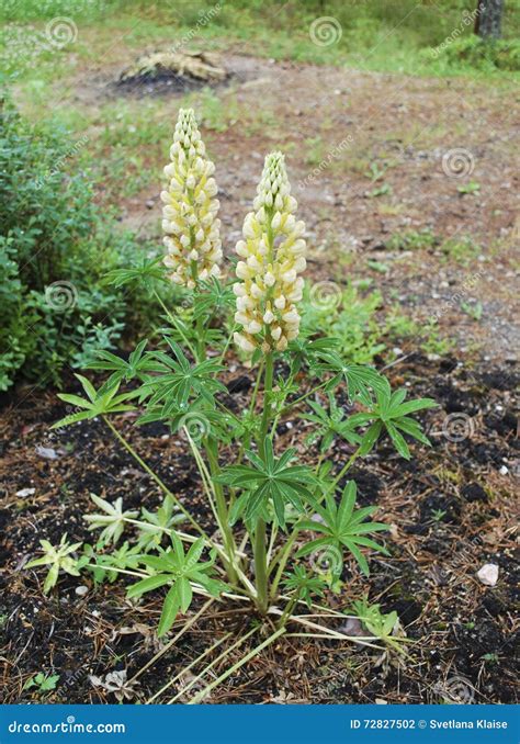
[(268, 155), (253, 202), (256, 211), (246, 216), (244, 240), (236, 247), (244, 260), (237, 263), (241, 282), (234, 285), (235, 320), (241, 326), (235, 342), (247, 352), (257, 348), (265, 353), (283, 351), (299, 331), (297, 303), (304, 280), (298, 274), (306, 267), (305, 224), (296, 222), (297, 203), (290, 192), (283, 155)]

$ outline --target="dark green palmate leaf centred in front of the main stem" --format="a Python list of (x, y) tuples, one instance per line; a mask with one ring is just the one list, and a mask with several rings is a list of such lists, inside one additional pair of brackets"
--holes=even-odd
[(267, 511), (269, 505), (274, 509), (276, 523), (285, 527), (285, 508), (291, 504), (297, 512), (304, 511), (304, 501), (313, 499), (308, 485), (315, 483), (315, 476), (306, 465), (290, 465), (295, 450), (287, 450), (275, 458), (272, 442), (265, 441), (265, 462), (247, 452), (249, 465), (225, 467), (218, 476), (219, 483), (247, 492), (245, 499), (245, 519), (257, 518)]

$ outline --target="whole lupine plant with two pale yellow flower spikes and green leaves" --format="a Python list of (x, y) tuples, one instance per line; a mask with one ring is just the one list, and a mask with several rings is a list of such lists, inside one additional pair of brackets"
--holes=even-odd
[[(94, 497), (101, 512), (86, 519), (101, 534), (88, 546), (87, 568), (99, 580), (129, 576), (128, 598), (165, 596), (159, 634), (188, 612), (195, 593), (250, 602), (259, 616), (274, 619), (271, 640), (290, 623), (338, 638), (327, 627), (327, 618), (339, 615), (327, 609), (327, 594), (341, 587), (347, 571), (369, 575), (370, 552), (389, 551), (373, 537), (387, 529), (372, 521), (375, 507), (357, 508), (349, 471), (382, 437), (406, 459), (406, 439), (428, 444), (410, 415), (434, 403), (405, 401), (406, 392), (393, 392), (375, 369), (343, 359), (337, 339), (301, 327), (305, 225), (281, 153), (265, 157), (236, 246), (235, 278), (223, 266), (214, 166), (192, 110), (179, 114), (170, 156), (161, 193), (163, 270), (145, 261), (112, 280), (172, 282), (181, 296), (165, 304), (159, 340), (157, 334), (152, 345), (143, 339), (128, 361), (99, 353), (92, 368), (106, 380), (95, 390), (78, 375), (86, 397), (61, 395), (76, 412), (55, 425), (101, 417), (165, 501), (157, 512), (143, 506), (139, 515), (124, 510), (121, 499), (111, 505)], [(224, 382), (237, 354), (255, 376), (239, 407)], [(136, 452), (121, 432), (117, 414), (131, 409), (140, 413), (137, 426), (162, 421), (184, 437), (199, 471), (194, 486), (205, 494), (216, 530), (200, 523), (147, 464), (146, 452)], [(310, 431), (299, 447), (285, 448), (278, 436), (287, 419), (305, 422), (306, 437)], [(329, 459), (338, 441), (349, 451), (340, 463)], [(115, 549), (124, 532), (125, 543)], [(64, 561), (55, 565), (70, 568)], [(307, 608), (325, 624), (306, 620)], [(362, 609), (376, 617), (366, 605)], [(375, 633), (378, 625), (372, 621), (370, 628)]]

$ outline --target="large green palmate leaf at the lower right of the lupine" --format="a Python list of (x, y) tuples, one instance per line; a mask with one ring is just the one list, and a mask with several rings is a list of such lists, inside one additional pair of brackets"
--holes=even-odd
[[(369, 575), (369, 564), (360, 548), (370, 548), (385, 554), (388, 553), (383, 545), (363, 536), (387, 530), (388, 526), (382, 522), (364, 521), (375, 511), (376, 507), (354, 509), (355, 497), (355, 483), (349, 481), (341, 494), (339, 506), (337, 506), (335, 498), (330, 494), (326, 495), (325, 505), (315, 505), (320, 521), (303, 520), (298, 522), (297, 529), (299, 531), (318, 532), (324, 537), (306, 543), (296, 553), (296, 557), (309, 555), (325, 546), (330, 546), (341, 552), (347, 548), (358, 562), (361, 571), (366, 576)], [(340, 571), (339, 565), (337, 571)]]

